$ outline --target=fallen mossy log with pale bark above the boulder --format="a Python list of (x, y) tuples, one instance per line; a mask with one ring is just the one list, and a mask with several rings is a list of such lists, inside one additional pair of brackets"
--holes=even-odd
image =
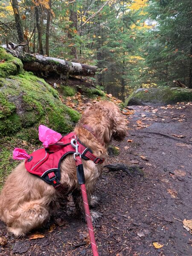
[(23, 53), (7, 48), (6, 51), (11, 53), (14, 57), (19, 58), (23, 62), (24, 70), (44, 72), (46, 76), (94, 76), (97, 70), (96, 66), (64, 61), (59, 58)]

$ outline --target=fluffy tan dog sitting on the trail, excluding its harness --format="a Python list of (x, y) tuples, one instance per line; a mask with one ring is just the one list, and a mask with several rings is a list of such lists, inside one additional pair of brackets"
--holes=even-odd
[[(89, 125), (94, 135), (83, 128)], [(112, 102), (97, 102), (88, 107), (74, 129), (79, 140), (99, 158), (107, 156), (107, 146), (112, 139), (123, 140), (126, 134), (125, 119), (119, 108)], [(97, 203), (92, 195), (94, 185), (102, 172), (102, 166), (91, 160), (83, 160), (87, 197), (90, 206)], [(60, 182), (72, 192), (76, 208), (84, 214), (80, 186), (76, 177), (76, 165), (72, 155), (61, 163)], [(9, 175), (0, 194), (0, 218), (7, 224), (9, 232), (15, 236), (25, 235), (30, 230), (41, 226), (49, 218), (50, 204), (61, 197), (52, 185), (26, 171), (24, 162)], [(100, 214), (91, 211), (93, 221)]]

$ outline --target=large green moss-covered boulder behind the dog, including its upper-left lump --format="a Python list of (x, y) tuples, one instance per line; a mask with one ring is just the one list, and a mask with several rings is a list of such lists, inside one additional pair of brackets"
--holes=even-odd
[[(58, 92), (44, 79), (23, 71), (17, 58), (0, 49), (0, 137), (45, 124), (65, 134), (79, 113), (61, 102)], [(6, 68), (5, 68), (6, 67)]]

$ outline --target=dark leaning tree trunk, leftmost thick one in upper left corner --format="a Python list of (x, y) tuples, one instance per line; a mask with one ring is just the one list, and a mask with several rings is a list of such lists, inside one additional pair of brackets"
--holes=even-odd
[(15, 25), (17, 28), (18, 42), (19, 42), (19, 44), (20, 43), (24, 44), (25, 39), (24, 39), (23, 27), (22, 27), (20, 15), (19, 15), (18, 2), (17, 2), (17, 0), (12, 0), (11, 3), (12, 3), (12, 7), (13, 7), (14, 16), (15, 16)]

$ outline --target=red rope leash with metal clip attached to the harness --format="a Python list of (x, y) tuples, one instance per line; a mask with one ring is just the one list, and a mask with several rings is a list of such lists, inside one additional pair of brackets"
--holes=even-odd
[(88, 204), (88, 200), (87, 200), (87, 192), (86, 192), (86, 187), (85, 187), (83, 164), (82, 164), (82, 160), (81, 160), (81, 154), (78, 151), (79, 145), (77, 143), (76, 136), (74, 136), (74, 139), (71, 140), (71, 145), (73, 146), (73, 148), (76, 149), (76, 152), (73, 154), (73, 156), (74, 156), (74, 159), (76, 160), (77, 179), (78, 179), (78, 183), (81, 186), (81, 193), (82, 193), (83, 204), (84, 204), (85, 218), (86, 218), (87, 227), (88, 227), (88, 231), (89, 231), (93, 256), (99, 256), (98, 251), (97, 251), (94, 231), (93, 231), (93, 224), (92, 224), (92, 220), (91, 220), (89, 204)]

